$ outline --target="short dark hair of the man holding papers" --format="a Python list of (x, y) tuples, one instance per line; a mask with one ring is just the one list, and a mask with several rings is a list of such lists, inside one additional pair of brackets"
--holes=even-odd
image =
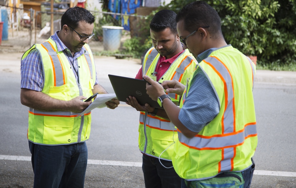
[(92, 24), (94, 23), (94, 19), (94, 15), (92, 15), (88, 10), (77, 6), (71, 7), (62, 15), (61, 28), (63, 25), (70, 25), (75, 29), (80, 21)]

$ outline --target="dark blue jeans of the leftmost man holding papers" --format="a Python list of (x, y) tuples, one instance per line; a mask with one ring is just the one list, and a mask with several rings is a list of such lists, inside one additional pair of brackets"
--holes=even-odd
[(29, 141), (34, 188), (83, 187), (87, 165), (85, 142), (70, 145), (39, 145)]

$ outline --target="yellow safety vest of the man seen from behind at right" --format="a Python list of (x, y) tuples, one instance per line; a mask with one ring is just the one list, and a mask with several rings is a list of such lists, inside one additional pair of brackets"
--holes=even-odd
[[(192, 138), (178, 130), (172, 162), (177, 174), (188, 181), (244, 171), (252, 165), (258, 142), (252, 93), (255, 64), (229, 45), (200, 62), (193, 76), (200, 71), (211, 82), (220, 112)], [(186, 105), (191, 84), (197, 83), (186, 86), (180, 107)]]

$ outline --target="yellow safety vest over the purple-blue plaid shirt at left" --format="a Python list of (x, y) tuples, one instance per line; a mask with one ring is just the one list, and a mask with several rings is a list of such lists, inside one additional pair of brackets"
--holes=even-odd
[[(69, 101), (77, 96), (91, 96), (96, 80), (94, 59), (88, 44), (85, 53), (78, 57), (76, 81), (67, 56), (57, 51), (51, 38), (42, 44), (34, 44), (22, 56), (24, 59), (33, 49), (38, 49), (43, 65), (44, 87), (41, 92), (52, 98)], [(40, 111), (29, 109), (28, 140), (42, 145), (66, 145), (89, 139), (91, 113), (76, 117), (70, 111)]]

